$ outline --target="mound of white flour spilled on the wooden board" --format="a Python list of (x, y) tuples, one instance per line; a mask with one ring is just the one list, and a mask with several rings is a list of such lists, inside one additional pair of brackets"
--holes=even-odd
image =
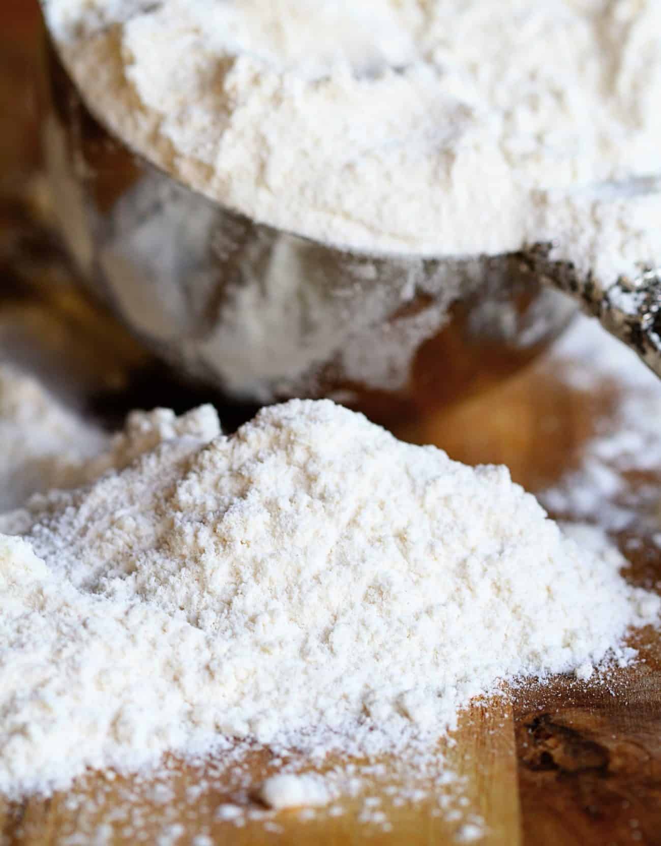
[(577, 545), (504, 468), (329, 401), (232, 437), (211, 409), (133, 426), (123, 470), (0, 519), (9, 795), (237, 737), (432, 747), (500, 680), (586, 677), (658, 620), (597, 531)]

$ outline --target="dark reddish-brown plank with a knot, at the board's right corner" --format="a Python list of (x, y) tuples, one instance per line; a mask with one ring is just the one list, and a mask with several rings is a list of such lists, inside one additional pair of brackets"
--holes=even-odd
[(657, 640), (651, 653), (613, 694), (558, 680), (541, 704), (517, 708), (526, 842), (661, 843)]

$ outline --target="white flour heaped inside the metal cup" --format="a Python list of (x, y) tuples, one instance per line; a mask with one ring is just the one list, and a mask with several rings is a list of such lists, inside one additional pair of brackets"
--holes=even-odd
[(44, 7), (91, 110), (256, 220), (427, 255), (554, 239), (613, 279), (661, 255), (658, 0)]

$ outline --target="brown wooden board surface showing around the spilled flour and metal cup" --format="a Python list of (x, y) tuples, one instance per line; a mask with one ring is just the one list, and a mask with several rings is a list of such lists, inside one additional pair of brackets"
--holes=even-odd
[[(38, 159), (36, 99), (30, 83), (38, 61), (36, 21), (35, 0), (0, 3), (0, 189), (3, 185), (12, 189)], [(0, 215), (0, 245), (2, 229)], [(9, 287), (8, 277), (0, 277), (0, 295)], [(59, 334), (47, 336), (44, 327), (52, 321), (47, 306), (15, 297), (3, 302), (0, 296), (0, 315), (9, 315), (9, 323), (23, 321), (26, 331), (41, 343), (52, 339), (49, 356), (68, 345), (70, 365), (85, 382), (98, 364), (96, 357), (103, 354), (104, 336), (94, 335), (91, 360), (81, 356), (90, 339), (85, 336), (85, 315), (66, 301), (65, 294), (58, 307), (65, 322)], [(114, 349), (111, 340), (107, 349)], [(139, 351), (124, 349), (124, 360), (139, 359)], [(107, 370), (113, 387), (121, 386), (121, 363), (115, 355)], [(418, 420), (398, 434), (436, 442), (453, 458), (469, 463), (509, 464), (516, 481), (534, 491), (580, 460), (598, 421), (613, 413), (616, 402), (617, 385), (604, 383), (590, 393), (576, 391), (558, 380), (554, 366), (542, 360), (504, 387)], [(645, 482), (658, 485), (661, 468), (647, 475)], [(636, 529), (630, 534), (636, 536)], [(624, 544), (626, 538), (620, 541)], [(631, 578), (640, 584), (661, 584), (658, 546), (642, 536), (642, 546), (634, 554)], [(153, 784), (91, 774), (69, 794), (47, 801), (8, 805), (0, 800), (0, 846), (431, 846), (454, 843), (462, 835), (465, 842), (470, 831), (462, 825), (471, 815), (484, 821), (485, 834), (479, 842), (485, 846), (661, 844), (661, 639), (646, 632), (637, 645), (644, 662), (616, 671), (608, 685), (558, 678), (543, 688), (530, 686), (468, 711), (454, 745), (445, 749), (449, 768), (465, 777), (460, 819), (435, 816), (438, 790), (430, 799), (395, 807), (383, 789), (389, 771), (391, 782), (396, 782), (394, 762), (383, 761), (385, 776), (367, 792), (381, 800), (379, 807), (392, 830), (361, 822), (364, 805), (359, 799), (343, 801), (342, 816), (320, 813), (302, 820), (290, 810), (278, 814), (276, 830), (265, 829), (260, 820), (236, 827), (216, 817), (218, 805), (227, 799), (229, 782), (215, 775), (212, 765), (205, 770), (173, 761), (171, 776), (156, 791)], [(263, 755), (253, 756), (246, 766), (255, 784), (268, 772)], [(452, 786), (447, 795), (450, 805), (457, 802)], [(206, 832), (206, 840), (200, 839), (200, 832)]]

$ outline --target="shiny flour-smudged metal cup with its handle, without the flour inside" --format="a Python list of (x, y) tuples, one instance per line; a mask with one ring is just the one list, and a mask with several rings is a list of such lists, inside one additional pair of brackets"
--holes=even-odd
[[(661, 372), (658, 275), (599, 288), (554, 244), (498, 256), (339, 250), (174, 179), (92, 116), (51, 51), (47, 164), (80, 280), (190, 379), (381, 420), (482, 391), (590, 311)], [(569, 297), (565, 294), (569, 294)]]

